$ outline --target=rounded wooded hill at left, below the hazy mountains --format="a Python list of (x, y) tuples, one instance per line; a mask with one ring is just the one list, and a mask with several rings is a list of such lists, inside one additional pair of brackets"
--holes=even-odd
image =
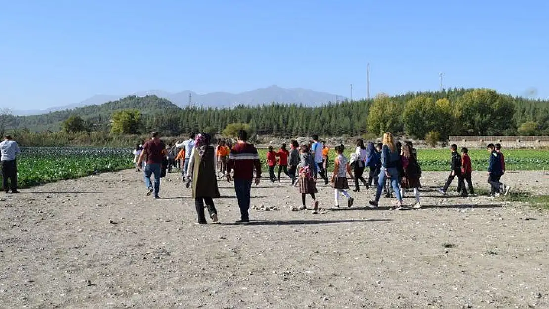
[(114, 111), (124, 109), (138, 109), (144, 117), (160, 112), (177, 113), (181, 110), (166, 99), (150, 95), (130, 96), (101, 105), (89, 105), (42, 115), (16, 116), (14, 125), (16, 128), (29, 128), (30, 131), (59, 131), (61, 123), (71, 115), (79, 115), (88, 122), (104, 125), (109, 122)]

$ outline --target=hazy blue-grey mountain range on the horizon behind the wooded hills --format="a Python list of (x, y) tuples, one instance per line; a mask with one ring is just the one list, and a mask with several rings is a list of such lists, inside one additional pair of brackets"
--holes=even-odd
[(82, 106), (100, 105), (106, 102), (119, 100), (121, 98), (127, 97), (127, 95), (136, 95), (137, 97), (156, 95), (159, 98), (170, 100), (170, 102), (181, 108), (189, 105), (189, 99), (191, 101), (191, 104), (193, 105), (203, 105), (217, 108), (228, 108), (234, 105), (261, 105), (271, 102), (318, 106), (329, 102), (337, 102), (337, 100), (346, 99), (341, 95), (326, 92), (317, 92), (303, 88), (286, 89), (276, 85), (242, 93), (213, 92), (207, 94), (198, 94), (192, 91), (170, 93), (165, 91), (153, 90), (125, 95), (97, 94), (79, 103), (65, 106), (57, 106), (44, 110), (14, 110), (13, 114), (41, 115), (51, 113), (53, 111), (80, 108)]

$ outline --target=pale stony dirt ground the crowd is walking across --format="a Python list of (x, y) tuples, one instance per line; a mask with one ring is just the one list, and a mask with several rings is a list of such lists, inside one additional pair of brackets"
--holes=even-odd
[[(290, 211), (298, 189), (264, 182), (252, 205), (279, 210), (251, 210), (249, 226), (233, 225), (227, 182), (220, 223), (193, 224), (177, 176), (160, 200), (131, 170), (1, 195), (0, 307), (549, 308), (549, 212), (441, 196), (446, 172), (424, 172), (424, 207), (405, 211), (365, 209), (373, 190), (351, 192), (352, 209)], [(541, 171), (503, 180), (549, 192)], [(484, 172), (474, 182), (488, 188)]]

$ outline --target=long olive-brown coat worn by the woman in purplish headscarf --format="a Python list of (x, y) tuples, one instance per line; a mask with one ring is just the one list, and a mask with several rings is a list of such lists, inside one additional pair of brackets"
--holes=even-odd
[(193, 198), (219, 198), (217, 187), (215, 150), (212, 146), (202, 146), (204, 154), (194, 149), (193, 158)]

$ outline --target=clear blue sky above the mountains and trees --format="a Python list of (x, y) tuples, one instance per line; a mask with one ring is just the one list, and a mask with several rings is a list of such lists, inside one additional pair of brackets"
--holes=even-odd
[(0, 106), (94, 94), (354, 97), (486, 87), (549, 98), (546, 1), (0, 0)]

